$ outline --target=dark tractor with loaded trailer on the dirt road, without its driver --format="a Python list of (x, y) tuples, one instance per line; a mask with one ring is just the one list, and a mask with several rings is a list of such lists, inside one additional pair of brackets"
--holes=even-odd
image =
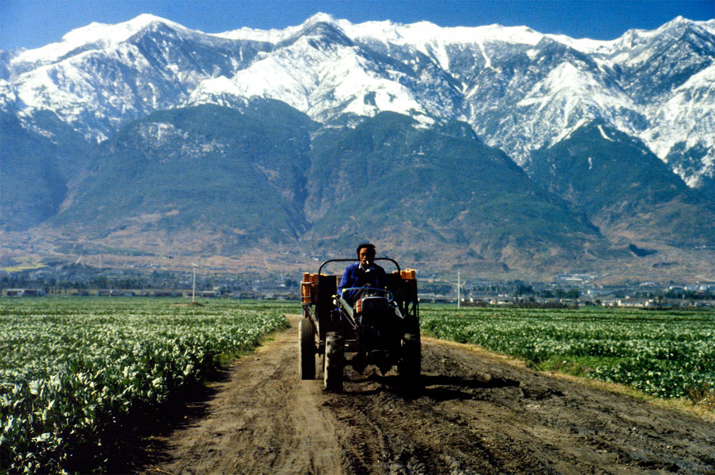
[[(387, 273), (385, 288), (345, 288), (337, 295), (340, 275), (323, 273), (330, 263), (356, 259), (331, 259), (317, 274), (303, 274), (302, 315), (299, 333), (301, 379), (315, 379), (315, 358), (322, 357), (326, 391), (342, 391), (345, 366), (358, 373), (377, 366), (383, 375), (397, 366), (403, 388), (420, 381), (420, 317), (415, 270)], [(348, 294), (360, 294), (352, 301)]]

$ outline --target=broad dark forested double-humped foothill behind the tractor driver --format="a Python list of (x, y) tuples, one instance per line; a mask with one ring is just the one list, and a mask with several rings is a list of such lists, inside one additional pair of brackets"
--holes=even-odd
[(82, 190), (48, 223), (142, 252), (342, 254), (373, 239), (435, 267), (543, 272), (613, 257), (583, 215), (468, 124), (425, 128), (383, 112), (355, 128), (315, 127), (265, 101), (151, 114), (99, 148)]

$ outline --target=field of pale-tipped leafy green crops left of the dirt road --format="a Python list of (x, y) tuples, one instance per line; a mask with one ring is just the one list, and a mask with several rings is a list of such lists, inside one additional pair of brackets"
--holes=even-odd
[(225, 300), (3, 300), (0, 473), (101, 471), (158, 408), (285, 325)]

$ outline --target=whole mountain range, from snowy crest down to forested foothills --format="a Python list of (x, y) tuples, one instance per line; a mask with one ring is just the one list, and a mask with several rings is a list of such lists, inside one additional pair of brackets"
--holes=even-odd
[[(3, 161), (32, 170), (4, 165), (0, 227), (50, 249), (59, 232), (305, 257), (363, 234), (435, 268), (691, 265), (715, 242), (714, 28), (676, 18), (594, 41), (325, 14), (220, 34), (92, 24), (0, 52), (0, 110), (20, 126), (4, 125)], [(374, 190), (352, 185), (364, 167)]]

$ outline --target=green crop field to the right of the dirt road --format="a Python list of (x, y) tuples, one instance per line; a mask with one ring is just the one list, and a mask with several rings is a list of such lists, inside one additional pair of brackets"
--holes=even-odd
[(695, 402), (715, 389), (715, 312), (423, 305), (423, 331), (516, 356), (538, 369)]

